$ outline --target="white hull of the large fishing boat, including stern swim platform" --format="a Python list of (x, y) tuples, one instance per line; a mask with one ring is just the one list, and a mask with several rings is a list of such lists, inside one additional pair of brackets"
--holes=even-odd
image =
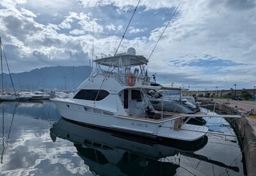
[(208, 128), (202, 126), (191, 126), (189, 124), (179, 126), (182, 121), (180, 116), (166, 119), (148, 119), (118, 115), (118, 112), (104, 110), (100, 107), (97, 108), (97, 106), (79, 105), (67, 99), (51, 100), (65, 119), (121, 133), (131, 133), (132, 135), (148, 138), (173, 138), (193, 141), (202, 138), (208, 131)]

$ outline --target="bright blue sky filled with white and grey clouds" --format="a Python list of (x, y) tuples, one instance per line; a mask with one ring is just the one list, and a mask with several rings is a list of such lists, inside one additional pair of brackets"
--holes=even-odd
[[(0, 36), (10, 71), (89, 65), (113, 55), (135, 0), (1, 0)], [(256, 86), (254, 0), (141, 0), (118, 52), (149, 57), (157, 82), (191, 90)], [(94, 39), (93, 39), (94, 37)], [(7, 71), (6, 71), (7, 72)]]

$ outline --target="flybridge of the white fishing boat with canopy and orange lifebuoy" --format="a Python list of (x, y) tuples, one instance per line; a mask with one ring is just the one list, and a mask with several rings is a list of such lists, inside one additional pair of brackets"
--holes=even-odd
[[(101, 73), (107, 77), (115, 78), (122, 85), (129, 85), (130, 87), (147, 85), (150, 79), (147, 77), (147, 71), (145, 71), (148, 59), (143, 55), (136, 55), (134, 48), (129, 48), (127, 53), (96, 59), (94, 62), (97, 64), (91, 77)], [(107, 66), (108, 71), (104, 71), (103, 66)]]

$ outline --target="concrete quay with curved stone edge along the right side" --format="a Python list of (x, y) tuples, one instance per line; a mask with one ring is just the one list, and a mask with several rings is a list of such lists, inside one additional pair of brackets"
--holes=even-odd
[(246, 175), (256, 175), (256, 101), (231, 99), (200, 99), (199, 101), (202, 102), (202, 106), (225, 112), (223, 114), (241, 115), (240, 119), (234, 119), (230, 124), (237, 133), (244, 154)]

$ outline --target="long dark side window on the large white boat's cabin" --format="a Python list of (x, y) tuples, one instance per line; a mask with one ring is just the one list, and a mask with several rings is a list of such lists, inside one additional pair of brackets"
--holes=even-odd
[[(99, 92), (99, 94), (98, 94)], [(97, 96), (98, 94), (98, 96)], [(76, 96), (74, 96), (74, 99), (86, 99), (86, 100), (96, 100), (100, 101), (104, 98), (106, 98), (109, 95), (108, 91), (104, 90), (81, 90), (77, 92)], [(96, 99), (97, 97), (97, 99)]]

